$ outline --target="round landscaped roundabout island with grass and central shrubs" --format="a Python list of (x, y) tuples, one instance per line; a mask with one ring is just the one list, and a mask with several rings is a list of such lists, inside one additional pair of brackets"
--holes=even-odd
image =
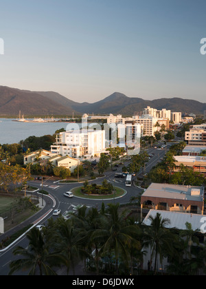
[(83, 186), (73, 188), (71, 191), (76, 197), (84, 197), (94, 200), (108, 200), (122, 197), (126, 194), (126, 191), (124, 189), (113, 186), (106, 180), (102, 182), (102, 185), (89, 184), (88, 182), (84, 182)]

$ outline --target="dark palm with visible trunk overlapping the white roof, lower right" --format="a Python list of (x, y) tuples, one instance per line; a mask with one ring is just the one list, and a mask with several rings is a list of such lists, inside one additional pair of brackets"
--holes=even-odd
[(146, 226), (144, 230), (144, 246), (152, 249), (150, 257), (150, 265), (155, 255), (155, 274), (157, 273), (157, 257), (160, 261), (163, 261), (164, 250), (171, 250), (172, 235), (170, 231), (165, 229), (166, 224), (170, 224), (170, 220), (162, 219), (160, 213), (157, 213), (156, 217), (149, 217), (151, 221), (150, 226)]

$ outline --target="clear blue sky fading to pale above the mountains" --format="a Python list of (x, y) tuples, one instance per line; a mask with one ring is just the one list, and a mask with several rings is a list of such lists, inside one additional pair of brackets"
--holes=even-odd
[(205, 0), (1, 0), (0, 85), (206, 103), (205, 12)]

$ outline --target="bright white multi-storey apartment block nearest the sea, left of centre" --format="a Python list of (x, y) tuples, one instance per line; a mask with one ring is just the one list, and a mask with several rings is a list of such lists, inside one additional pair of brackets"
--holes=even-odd
[(105, 131), (93, 129), (63, 131), (56, 136), (51, 151), (71, 158), (100, 156), (105, 151)]

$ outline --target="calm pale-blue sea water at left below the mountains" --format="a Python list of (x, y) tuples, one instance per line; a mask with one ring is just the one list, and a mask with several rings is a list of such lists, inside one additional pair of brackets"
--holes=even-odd
[(15, 122), (12, 119), (0, 118), (0, 144), (19, 143), (29, 136), (54, 134), (57, 129), (66, 129), (67, 122)]

